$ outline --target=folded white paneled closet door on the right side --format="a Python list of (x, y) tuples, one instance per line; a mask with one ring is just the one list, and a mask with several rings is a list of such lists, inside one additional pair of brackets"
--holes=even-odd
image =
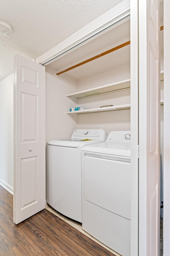
[(159, 1), (139, 0), (139, 256), (159, 255)]

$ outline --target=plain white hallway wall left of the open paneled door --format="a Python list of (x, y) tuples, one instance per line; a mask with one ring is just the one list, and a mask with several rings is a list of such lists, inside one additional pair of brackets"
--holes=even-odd
[(13, 74), (0, 81), (0, 183), (13, 191)]

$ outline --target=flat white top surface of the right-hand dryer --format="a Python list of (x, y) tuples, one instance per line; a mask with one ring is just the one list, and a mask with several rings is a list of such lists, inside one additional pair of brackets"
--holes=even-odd
[(102, 142), (83, 147), (83, 151), (130, 157), (130, 143)]

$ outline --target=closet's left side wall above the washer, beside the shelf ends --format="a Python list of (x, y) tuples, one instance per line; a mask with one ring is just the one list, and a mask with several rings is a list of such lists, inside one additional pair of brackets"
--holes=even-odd
[(71, 117), (63, 112), (77, 106), (65, 95), (77, 91), (77, 81), (63, 74), (55, 75), (55, 70), (45, 68), (46, 101), (46, 142), (50, 139), (70, 138), (77, 129), (77, 116)]

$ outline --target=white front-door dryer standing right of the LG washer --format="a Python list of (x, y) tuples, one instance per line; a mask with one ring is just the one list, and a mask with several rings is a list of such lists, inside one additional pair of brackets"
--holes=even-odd
[(130, 256), (130, 131), (82, 150), (82, 228)]

